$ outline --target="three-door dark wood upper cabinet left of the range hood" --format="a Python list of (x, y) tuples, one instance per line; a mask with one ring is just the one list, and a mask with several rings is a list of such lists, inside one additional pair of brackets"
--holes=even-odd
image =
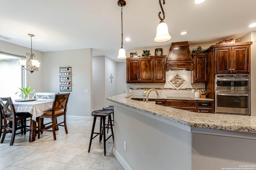
[(130, 57), (126, 59), (127, 83), (165, 83), (166, 56)]

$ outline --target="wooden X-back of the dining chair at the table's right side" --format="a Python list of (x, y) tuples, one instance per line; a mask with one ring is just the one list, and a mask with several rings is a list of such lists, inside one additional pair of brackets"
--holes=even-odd
[(66, 114), (69, 95), (70, 95), (70, 93), (55, 95), (54, 102), (52, 104), (52, 114), (53, 115), (54, 115), (54, 112), (58, 111), (58, 110), (64, 110), (64, 113)]

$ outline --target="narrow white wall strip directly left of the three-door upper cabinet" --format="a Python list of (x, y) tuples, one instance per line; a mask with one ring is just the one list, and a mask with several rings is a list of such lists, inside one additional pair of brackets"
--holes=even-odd
[(116, 94), (126, 93), (126, 62), (116, 64)]

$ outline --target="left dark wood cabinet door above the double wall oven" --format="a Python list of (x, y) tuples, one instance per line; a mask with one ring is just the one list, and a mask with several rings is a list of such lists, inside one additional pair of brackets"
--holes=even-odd
[(228, 74), (231, 71), (231, 47), (215, 48), (215, 73)]

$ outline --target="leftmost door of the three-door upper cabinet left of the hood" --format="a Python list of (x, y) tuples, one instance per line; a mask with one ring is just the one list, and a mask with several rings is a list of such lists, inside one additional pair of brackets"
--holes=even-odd
[(127, 83), (140, 82), (139, 63), (140, 63), (139, 59), (126, 60), (126, 82)]

